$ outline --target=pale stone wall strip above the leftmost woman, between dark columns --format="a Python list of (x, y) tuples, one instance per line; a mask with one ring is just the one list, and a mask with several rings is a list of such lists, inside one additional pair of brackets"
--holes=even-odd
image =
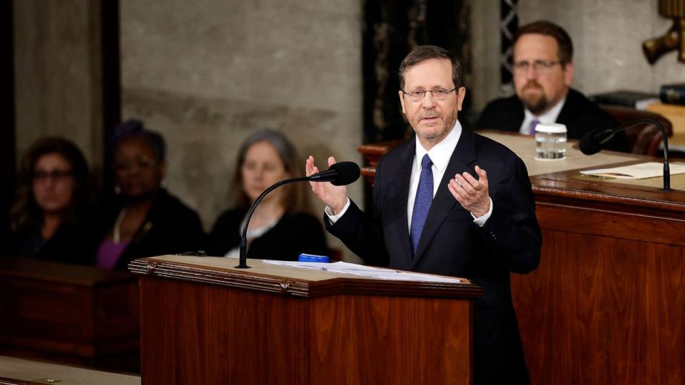
[(16, 155), (45, 135), (103, 163), (100, 4), (14, 0)]

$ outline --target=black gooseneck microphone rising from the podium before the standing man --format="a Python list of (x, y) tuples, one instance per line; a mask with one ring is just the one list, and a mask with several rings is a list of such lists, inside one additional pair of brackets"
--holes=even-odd
[(237, 269), (249, 269), (250, 267), (248, 266), (248, 224), (250, 223), (250, 218), (255, 212), (255, 208), (257, 205), (259, 205), (259, 202), (261, 202), (264, 197), (275, 190), (276, 188), (279, 188), (282, 185), (285, 185), (286, 183), (293, 183), (293, 182), (330, 182), (333, 185), (336, 186), (343, 186), (343, 185), (349, 185), (350, 183), (353, 183), (355, 180), (359, 179), (360, 175), (360, 169), (357, 163), (354, 162), (338, 162), (335, 163), (335, 165), (330, 166), (328, 170), (321, 171), (320, 173), (315, 173), (312, 174), (308, 177), (298, 177), (298, 178), (290, 178), (290, 179), (285, 179), (281, 180), (280, 182), (277, 182), (273, 185), (271, 185), (269, 188), (264, 190), (263, 193), (255, 199), (255, 202), (250, 206), (250, 210), (248, 210), (248, 215), (245, 215), (245, 220), (243, 220), (243, 225), (240, 227), (240, 263), (238, 266), (235, 268)]

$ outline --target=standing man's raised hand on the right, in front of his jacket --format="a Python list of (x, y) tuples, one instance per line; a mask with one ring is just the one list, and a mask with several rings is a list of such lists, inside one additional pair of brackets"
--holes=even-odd
[(476, 166), (478, 180), (469, 173), (455, 175), (447, 188), (455, 199), (469, 210), (475, 217), (482, 217), (490, 210), (490, 197), (487, 192), (487, 174), (485, 170)]

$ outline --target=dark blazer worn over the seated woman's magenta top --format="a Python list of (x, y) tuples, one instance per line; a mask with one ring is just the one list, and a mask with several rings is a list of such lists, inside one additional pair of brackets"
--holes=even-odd
[[(99, 240), (103, 240), (112, 230), (121, 207), (123, 201), (118, 201), (107, 210)], [(177, 197), (161, 189), (153, 200), (143, 225), (121, 253), (115, 268), (126, 270), (129, 262), (142, 257), (196, 252), (204, 249), (205, 238), (198, 214)]]

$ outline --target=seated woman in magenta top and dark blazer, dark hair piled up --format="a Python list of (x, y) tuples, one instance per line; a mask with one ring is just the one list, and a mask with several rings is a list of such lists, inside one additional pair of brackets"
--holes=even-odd
[(136, 258), (201, 249), (200, 217), (162, 187), (166, 148), (161, 135), (136, 120), (119, 125), (115, 135), (116, 197), (103, 216), (96, 265), (125, 270)]

